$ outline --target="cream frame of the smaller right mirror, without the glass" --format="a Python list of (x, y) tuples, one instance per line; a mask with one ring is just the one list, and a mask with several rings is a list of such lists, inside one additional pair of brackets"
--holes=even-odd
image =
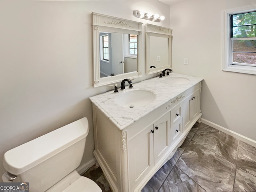
[[(166, 37), (168, 40), (168, 63), (167, 65), (150, 68), (150, 36)], [(160, 72), (166, 68), (172, 69), (172, 29), (156, 25), (146, 24), (146, 73)]]

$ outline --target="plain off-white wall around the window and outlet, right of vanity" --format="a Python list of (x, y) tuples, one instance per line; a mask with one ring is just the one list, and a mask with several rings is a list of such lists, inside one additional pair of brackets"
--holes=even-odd
[(250, 4), (256, 0), (186, 0), (170, 6), (170, 28), (174, 71), (204, 78), (202, 117), (256, 141), (256, 75), (222, 71), (222, 10)]

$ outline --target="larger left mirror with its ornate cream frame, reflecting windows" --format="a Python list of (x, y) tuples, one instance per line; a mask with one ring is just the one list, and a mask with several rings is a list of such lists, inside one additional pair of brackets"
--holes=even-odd
[(92, 13), (94, 87), (141, 75), (142, 23)]

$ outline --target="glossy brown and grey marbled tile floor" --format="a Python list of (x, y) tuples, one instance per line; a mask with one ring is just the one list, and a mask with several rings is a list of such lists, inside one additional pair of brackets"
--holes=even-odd
[[(96, 164), (84, 176), (111, 192)], [(174, 156), (142, 192), (255, 192), (256, 148), (204, 123), (196, 123)]]

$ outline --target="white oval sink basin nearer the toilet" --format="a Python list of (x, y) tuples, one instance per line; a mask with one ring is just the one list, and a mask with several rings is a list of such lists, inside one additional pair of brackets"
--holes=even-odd
[[(119, 92), (120, 93), (120, 92)], [(116, 104), (122, 107), (142, 107), (153, 103), (156, 95), (147, 90), (132, 90), (125, 93), (120, 93), (116, 98)]]

